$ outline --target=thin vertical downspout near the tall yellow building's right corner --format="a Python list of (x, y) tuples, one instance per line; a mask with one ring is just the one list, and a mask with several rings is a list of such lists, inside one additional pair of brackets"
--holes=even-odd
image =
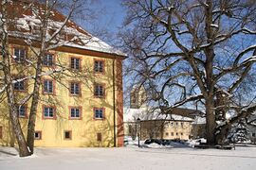
[(115, 73), (115, 61), (113, 59), (112, 70), (113, 70), (113, 118), (114, 118), (114, 147), (117, 146), (117, 134), (116, 134), (116, 73)]

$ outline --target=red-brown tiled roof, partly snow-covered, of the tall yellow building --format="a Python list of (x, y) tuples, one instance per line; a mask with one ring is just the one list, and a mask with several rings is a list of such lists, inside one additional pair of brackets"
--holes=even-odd
[[(13, 18), (15, 21), (15, 26), (11, 27), (10, 35), (14, 37), (24, 37), (29, 38), (30, 40), (38, 39), (38, 31), (40, 30), (41, 20), (40, 15), (44, 13), (44, 6), (38, 5), (36, 6), (36, 11), (31, 8), (25, 8), (26, 3), (17, 2), (10, 8), (15, 8), (15, 17)], [(12, 12), (10, 9), (9, 12)], [(92, 50), (102, 53), (114, 54), (121, 57), (126, 57), (127, 55), (118, 49), (112, 47), (106, 42), (101, 41), (101, 39), (94, 37), (86, 30), (84, 30), (81, 26), (78, 26), (76, 23), (72, 21), (67, 21), (66, 25), (64, 25), (66, 17), (57, 10), (53, 10), (51, 12), (51, 16), (49, 17), (49, 34), (46, 36), (46, 39), (50, 40), (50, 37), (59, 29), (62, 29), (62, 36), (64, 38), (64, 46), (81, 48), (85, 50)], [(61, 38), (59, 36), (59, 38)], [(55, 40), (56, 41), (56, 40)]]

